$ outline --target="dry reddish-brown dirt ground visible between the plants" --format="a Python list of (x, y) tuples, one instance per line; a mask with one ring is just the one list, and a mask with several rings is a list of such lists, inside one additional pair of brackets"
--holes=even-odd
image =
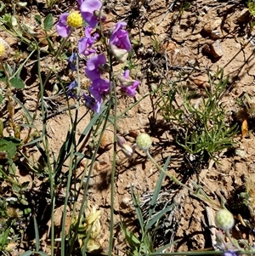
[[(224, 75), (229, 76), (229, 82), (222, 104), (230, 116), (238, 110), (236, 100), (242, 94), (255, 95), (255, 60), (253, 58), (255, 31), (249, 23), (246, 3), (196, 0), (190, 1), (190, 8), (184, 9), (181, 13), (179, 2), (181, 1), (149, 0), (130, 3), (124, 0), (109, 0), (105, 3), (108, 19), (127, 20), (131, 37), (141, 42), (134, 50), (137, 58), (135, 63), (137, 77), (141, 81), (139, 92), (135, 99), (121, 97), (118, 101), (119, 111), (123, 111), (134, 101), (141, 99), (151, 91), (152, 86), (158, 86), (165, 76), (174, 81), (180, 72), (190, 72), (187, 84), (197, 94), (203, 94), (204, 88), (208, 85), (207, 71), (224, 68)], [(65, 3), (65, 5), (65, 8), (63, 7), (65, 11), (72, 9), (72, 4)], [(59, 8), (62, 8), (61, 3), (59, 3)], [(32, 14), (41, 11), (37, 9), (37, 3), (33, 3), (32, 9)], [(54, 17), (57, 19), (57, 14)], [(153, 47), (153, 33), (161, 43), (160, 54), (156, 53)], [(4, 34), (3, 37), (9, 40), (11, 47), (17, 47), (17, 43), (11, 42), (9, 36)], [(42, 60), (42, 70), (46, 68), (47, 61), (50, 61), (50, 57), (45, 56)], [(193, 69), (194, 65), (197, 68)], [(33, 77), (29, 62), (26, 70), (27, 74), (23, 77), (26, 80), (25, 94), (21, 94), (23, 94), (23, 102), (32, 110), (34, 102), (27, 95), (37, 95), (37, 77)], [(68, 80), (68, 75), (66, 77)], [(227, 199), (227, 207), (236, 218), (238, 213), (244, 219), (249, 218), (247, 211), (244, 210), (242, 213), (238, 208), (238, 195), (244, 191), (243, 185), (246, 177), (255, 172), (255, 138), (252, 123), (248, 123), (249, 134), (246, 138), (241, 138), (240, 128), (240, 133), (235, 137), (236, 148), (219, 153), (218, 163), (207, 162), (202, 168), (196, 167), (195, 163), (189, 160), (189, 156), (174, 143), (171, 128), (162, 122), (160, 112), (156, 111), (157, 100), (155, 96), (146, 97), (127, 111), (126, 118), (118, 121), (119, 133), (125, 135), (128, 143), (132, 145), (135, 140), (134, 134), (141, 131), (147, 132), (153, 139), (150, 153), (156, 161), (163, 165), (167, 156), (171, 156), (167, 168), (171, 174), (178, 176), (178, 179), (188, 186), (190, 186), (190, 180), (195, 180), (218, 205), (218, 195), (223, 195)], [(61, 99), (54, 100), (54, 103), (62, 104), (62, 107), (66, 106), (65, 101)], [(79, 111), (82, 117), (86, 107), (81, 107)], [(40, 127), (39, 117), (37, 122)], [(87, 123), (88, 120), (85, 119), (79, 124), (77, 138)], [(59, 151), (59, 145), (65, 140), (69, 125), (70, 118), (66, 112), (48, 119), (49, 141), (54, 152)], [(94, 166), (94, 178), (88, 198), (102, 211), (102, 234), (105, 235), (101, 237), (100, 243), (106, 251), (109, 240), (111, 204), (110, 178), (113, 151), (111, 127), (107, 129), (104, 139), (98, 157), (99, 162)], [(77, 172), (82, 171), (81, 166)], [(116, 254), (125, 253), (124, 236), (118, 227), (120, 219), (131, 230), (135, 230), (137, 225), (130, 185), (133, 185), (137, 195), (141, 196), (140, 200), (144, 202), (145, 209), (145, 199), (150, 197), (151, 191), (155, 189), (159, 174), (144, 152), (136, 151), (132, 161), (124, 160), (121, 151), (118, 153), (114, 205)], [(21, 178), (28, 179), (24, 176)], [(209, 226), (213, 224), (212, 216), (217, 208), (208, 208), (205, 202), (190, 196), (189, 191), (174, 185), (170, 179), (164, 180), (161, 193), (163, 195), (159, 200), (161, 207), (171, 202), (175, 202), (176, 206), (161, 224), (161, 234), (164, 235), (158, 238), (159, 244), (180, 239), (175, 244), (174, 250), (199, 250), (212, 247), (212, 234)], [(60, 223), (61, 214), (62, 207), (59, 207), (56, 210), (56, 225)], [(239, 224), (237, 219), (236, 224)], [(241, 236), (247, 237), (248, 229), (244, 226), (240, 229)]]

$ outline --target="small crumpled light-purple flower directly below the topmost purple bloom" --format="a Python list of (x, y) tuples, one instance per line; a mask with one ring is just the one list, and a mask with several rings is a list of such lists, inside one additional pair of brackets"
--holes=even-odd
[(91, 48), (94, 41), (99, 37), (99, 34), (94, 34), (94, 37), (91, 37), (92, 27), (87, 26), (85, 28), (85, 37), (82, 37), (78, 42), (79, 53), (88, 56), (89, 54), (94, 54), (95, 49)]

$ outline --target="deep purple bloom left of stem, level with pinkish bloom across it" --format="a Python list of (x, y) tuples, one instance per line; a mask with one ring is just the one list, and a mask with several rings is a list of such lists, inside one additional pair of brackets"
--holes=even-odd
[(105, 79), (96, 79), (92, 82), (91, 86), (88, 88), (90, 94), (93, 95), (94, 100), (102, 102), (105, 95), (110, 92), (110, 82)]

